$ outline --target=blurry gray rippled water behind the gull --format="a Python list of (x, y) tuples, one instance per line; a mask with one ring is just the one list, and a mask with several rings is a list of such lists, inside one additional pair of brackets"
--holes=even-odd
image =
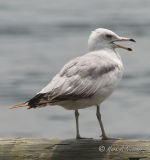
[[(125, 73), (101, 105), (109, 136), (150, 138), (149, 0), (0, 0), (0, 137), (75, 137), (74, 112), (8, 107), (39, 92), (70, 59), (87, 52), (91, 30), (137, 40), (121, 53)], [(99, 138), (95, 107), (80, 110), (82, 136)]]

